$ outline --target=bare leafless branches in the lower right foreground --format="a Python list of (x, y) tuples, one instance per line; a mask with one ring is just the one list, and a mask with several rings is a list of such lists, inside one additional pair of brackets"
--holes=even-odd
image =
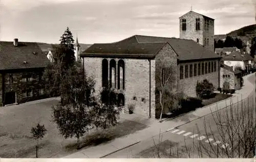
[[(229, 103), (229, 104), (228, 104)], [(200, 158), (251, 158), (256, 146), (256, 111), (255, 96), (251, 95), (237, 103), (226, 102), (226, 107), (211, 112), (204, 118), (202, 125), (197, 126), (193, 144), (184, 139), (184, 146), (169, 148), (180, 149), (176, 153), (170, 152), (170, 157), (200, 157)], [(201, 129), (200, 129), (201, 128)], [(162, 136), (159, 135), (159, 143)], [(204, 140), (201, 140), (204, 139)], [(160, 156), (160, 145), (153, 140), (155, 157)], [(185, 152), (185, 154), (184, 154)]]

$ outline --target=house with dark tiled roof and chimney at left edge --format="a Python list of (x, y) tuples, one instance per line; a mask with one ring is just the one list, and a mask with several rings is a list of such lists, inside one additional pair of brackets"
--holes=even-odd
[(0, 41), (0, 103), (46, 98), (41, 76), (48, 63), (37, 43)]

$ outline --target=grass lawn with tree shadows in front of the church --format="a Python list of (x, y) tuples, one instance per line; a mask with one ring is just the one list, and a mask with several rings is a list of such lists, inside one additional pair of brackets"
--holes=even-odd
[[(76, 152), (76, 139), (63, 138), (56, 124), (51, 122), (51, 105), (57, 102), (58, 100), (51, 100), (30, 105), (0, 107), (0, 157), (34, 158), (36, 141), (32, 138), (30, 130), (37, 122), (45, 124), (47, 129), (45, 137), (39, 140), (39, 157), (63, 157)], [(123, 120), (104, 131), (90, 132), (81, 139), (81, 144), (90, 147), (146, 127), (141, 121)]]

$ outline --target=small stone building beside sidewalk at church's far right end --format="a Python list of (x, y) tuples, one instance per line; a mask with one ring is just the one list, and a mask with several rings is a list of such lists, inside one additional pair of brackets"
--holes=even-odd
[(223, 88), (225, 82), (229, 83), (229, 89), (238, 90), (241, 88), (242, 71), (233, 70), (231, 67), (221, 64), (220, 69), (220, 88)]

